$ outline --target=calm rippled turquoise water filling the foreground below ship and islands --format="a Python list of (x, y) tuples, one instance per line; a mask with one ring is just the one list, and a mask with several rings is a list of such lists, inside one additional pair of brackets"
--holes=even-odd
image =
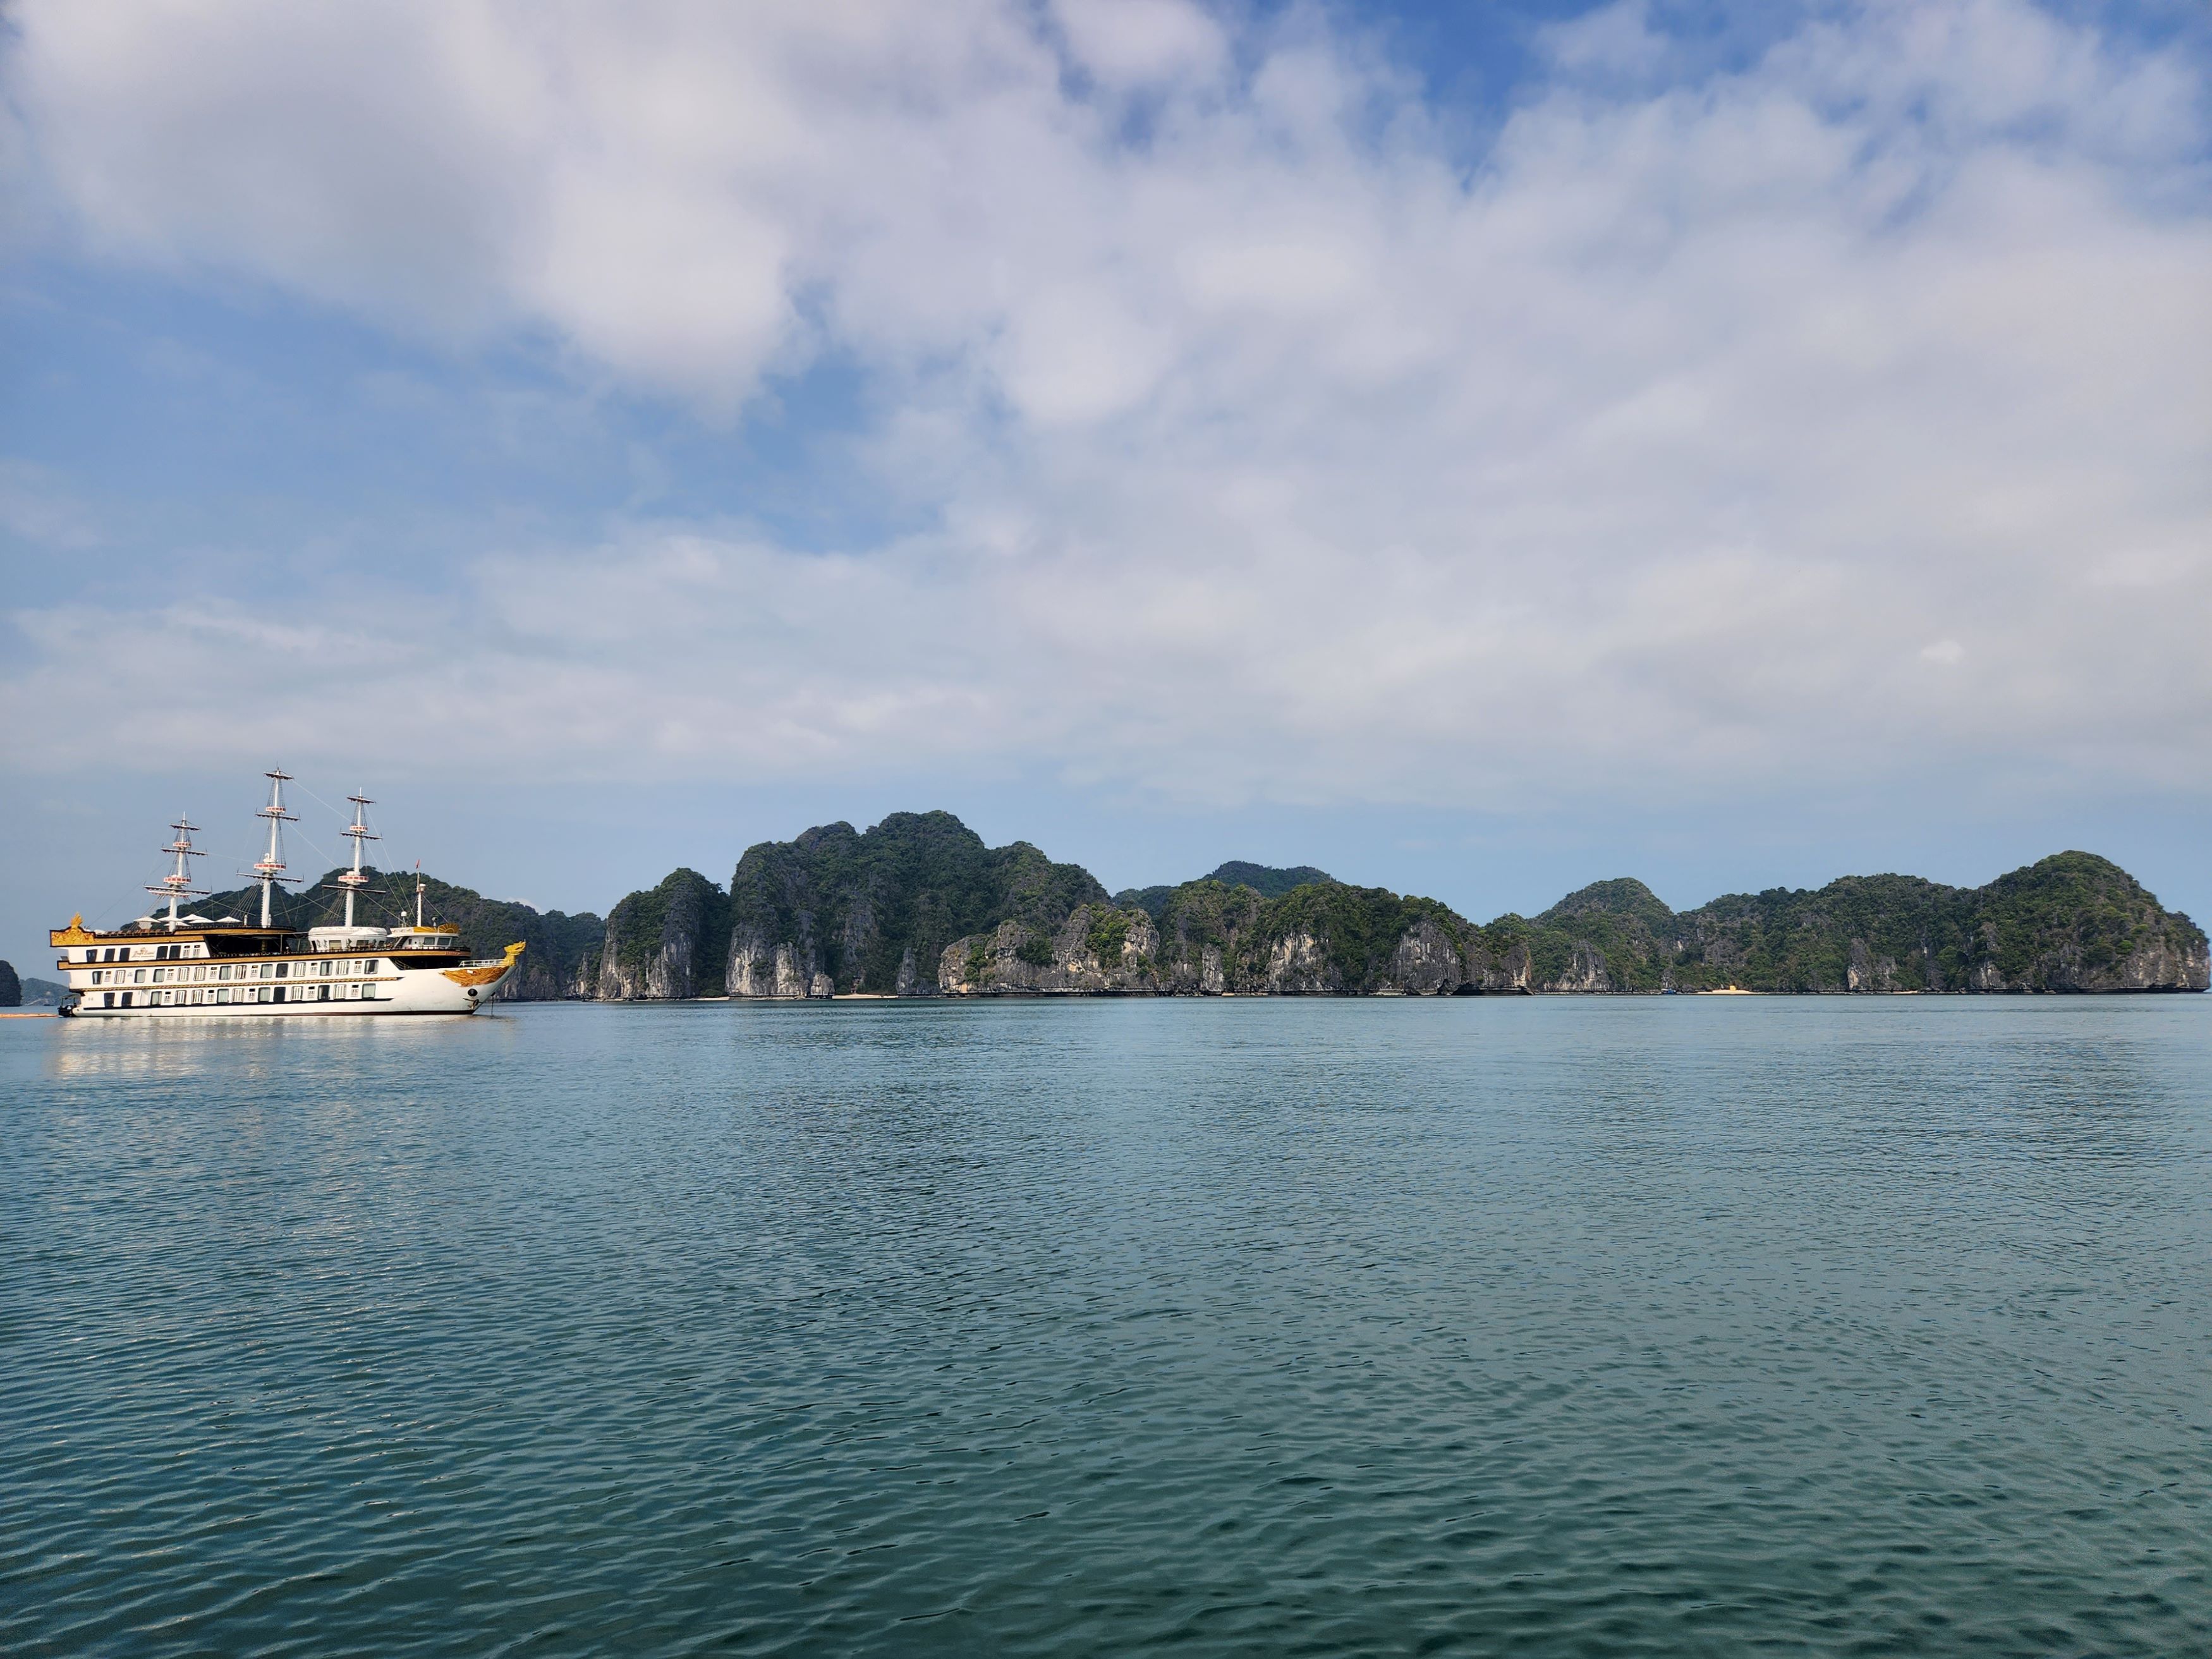
[(0, 1022), (0, 1650), (2212, 1650), (2212, 1000)]

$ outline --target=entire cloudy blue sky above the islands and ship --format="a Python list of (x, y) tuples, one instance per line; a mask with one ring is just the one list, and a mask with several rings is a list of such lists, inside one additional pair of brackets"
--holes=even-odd
[(942, 805), (2212, 914), (2205, 15), (29, 0), (0, 953), (279, 761), (566, 909)]

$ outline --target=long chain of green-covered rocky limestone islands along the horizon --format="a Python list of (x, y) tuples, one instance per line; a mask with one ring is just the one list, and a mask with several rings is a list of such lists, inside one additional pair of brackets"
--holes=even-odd
[[(336, 874), (336, 872), (334, 872)], [(411, 896), (414, 878), (394, 878)], [(321, 885), (330, 889), (325, 880)], [(217, 894), (237, 909), (248, 894)], [(254, 896), (254, 902), (259, 898)], [(283, 900), (305, 927), (327, 891)], [(949, 812), (763, 841), (728, 889), (695, 869), (597, 916), (429, 880), (482, 945), (524, 940), (515, 1000), (830, 995), (1559, 995), (1663, 991), (2203, 991), (2205, 933), (2119, 865), (2062, 852), (1986, 887), (1845, 876), (1672, 911), (1601, 880), (1540, 916), (1471, 922), (1433, 898), (1301, 865), (1225, 863), (1108, 894)], [(226, 914), (217, 909), (215, 914)]]

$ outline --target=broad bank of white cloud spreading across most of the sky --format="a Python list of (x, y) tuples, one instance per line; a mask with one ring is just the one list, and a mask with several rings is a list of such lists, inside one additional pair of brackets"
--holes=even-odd
[[(542, 332), (719, 409), (834, 347), (891, 414), (825, 487), (936, 513), (834, 557), (701, 524), (480, 557), (451, 635), (363, 659), (378, 712), (330, 748), (1048, 761), (1221, 801), (2022, 761), (2212, 787), (2192, 66), (2020, 0), (1869, 4), (1608, 91), (1652, 69), (1626, 7), (1471, 173), (1303, 13), (18, 22), (46, 186), (106, 257)], [(22, 624), (128, 644), (117, 710), (243, 692), (241, 613), (204, 599)], [(283, 639), (303, 672), (327, 646)], [(60, 763), (35, 686), (0, 723)], [(234, 741), (190, 697), (113, 721), (117, 754)]]

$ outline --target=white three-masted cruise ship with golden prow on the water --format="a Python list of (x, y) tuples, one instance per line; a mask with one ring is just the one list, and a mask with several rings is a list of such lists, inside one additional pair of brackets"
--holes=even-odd
[(268, 852), (252, 867), (261, 885), (259, 927), (239, 916), (181, 911), (192, 887), (190, 860), (197, 825), (177, 818), (177, 838), (164, 847), (177, 863), (146, 891), (168, 900), (166, 914), (139, 916), (128, 927), (100, 931), (71, 916), (69, 927), (49, 931), (62, 953), (55, 962), (73, 993), (62, 1013), (84, 1020), (223, 1020), (223, 1018), (332, 1018), (387, 1013), (476, 1013), (500, 982), (515, 971), (520, 945), (504, 956), (471, 960), (460, 931), (422, 920), (422, 878), (416, 876), (414, 922), (367, 927), (354, 920), (354, 900), (369, 885), (363, 845), (376, 841), (367, 825), (374, 805), (352, 794), (354, 821), (345, 834), (354, 863), (338, 872), (345, 922), (305, 931), (274, 925), (274, 894), (290, 885), (283, 863), (283, 825), (299, 823), (285, 810), (283, 785), (292, 776), (270, 772)]

